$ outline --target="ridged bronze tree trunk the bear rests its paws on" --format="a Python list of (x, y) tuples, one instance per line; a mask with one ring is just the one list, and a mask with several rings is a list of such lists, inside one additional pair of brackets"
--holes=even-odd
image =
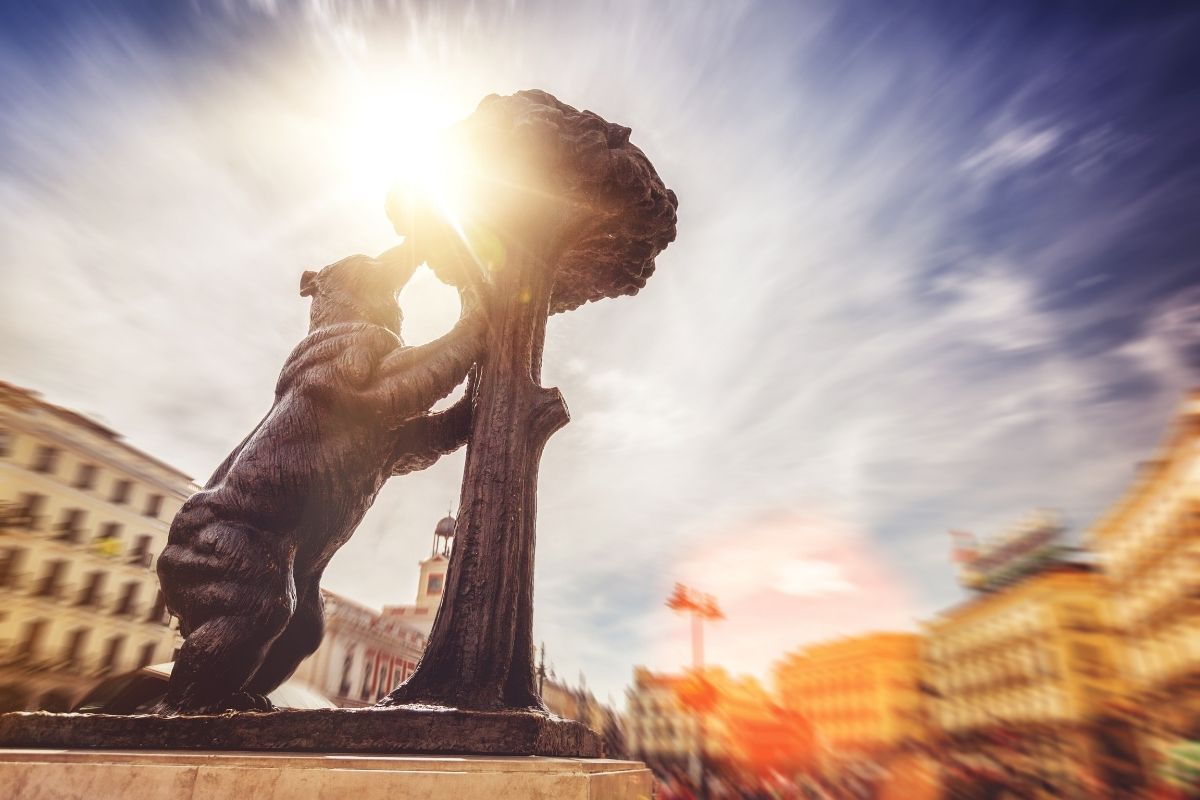
[(545, 709), (533, 663), (538, 465), (570, 416), (539, 383), (553, 270), (520, 255), (496, 273), (488, 301), (445, 594), (416, 672), (386, 705)]

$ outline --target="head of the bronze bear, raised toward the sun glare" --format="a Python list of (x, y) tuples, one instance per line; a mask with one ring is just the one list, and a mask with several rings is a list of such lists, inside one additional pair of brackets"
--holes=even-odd
[(400, 336), (403, 313), (397, 295), (416, 263), (389, 251), (379, 258), (350, 255), (319, 272), (300, 276), (300, 296), (312, 297), (308, 331), (338, 323), (371, 323)]

